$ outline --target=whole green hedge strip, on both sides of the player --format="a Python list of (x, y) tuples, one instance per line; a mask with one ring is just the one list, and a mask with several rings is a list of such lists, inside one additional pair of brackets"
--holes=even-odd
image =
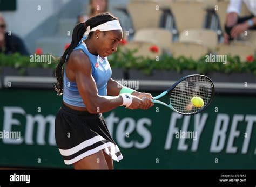
[[(116, 53), (109, 56), (109, 61), (112, 68), (139, 69), (144, 74), (150, 75), (153, 69), (159, 70), (175, 70), (178, 73), (181, 70), (196, 70), (200, 74), (206, 74), (212, 71), (222, 73), (252, 73), (256, 75), (256, 60), (251, 59), (251, 62), (240, 62), (238, 56), (227, 56), (227, 64), (205, 62), (205, 56), (198, 61), (188, 59), (186, 57), (174, 58), (169, 55), (159, 57), (159, 60), (148, 59), (143, 57), (134, 57), (136, 51), (121, 51), (118, 49)], [(252, 57), (253, 58), (253, 57)], [(30, 56), (22, 56), (18, 53), (5, 55), (0, 53), (0, 66), (11, 66), (24, 71), (26, 67), (42, 67), (56, 68), (57, 60), (53, 59), (52, 63), (45, 62), (30, 62)]]

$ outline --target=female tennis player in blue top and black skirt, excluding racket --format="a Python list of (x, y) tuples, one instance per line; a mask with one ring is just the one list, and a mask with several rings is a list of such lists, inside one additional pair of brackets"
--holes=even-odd
[(76, 25), (56, 68), (55, 90), (58, 95), (63, 93), (63, 104), (55, 119), (55, 137), (64, 163), (75, 169), (113, 169), (112, 160), (123, 159), (102, 112), (119, 106), (153, 106), (151, 94), (123, 87), (110, 78), (107, 56), (117, 50), (122, 37), (118, 18), (110, 13), (93, 16)]

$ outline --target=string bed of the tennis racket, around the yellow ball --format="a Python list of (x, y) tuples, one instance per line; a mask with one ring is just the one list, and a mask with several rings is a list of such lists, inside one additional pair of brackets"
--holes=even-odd
[[(212, 98), (212, 84), (210, 80), (201, 76), (188, 77), (181, 81), (171, 91), (169, 103), (173, 109), (184, 114), (197, 113), (203, 110)], [(204, 105), (200, 108), (195, 107), (191, 103), (193, 97), (201, 97), (204, 100)]]

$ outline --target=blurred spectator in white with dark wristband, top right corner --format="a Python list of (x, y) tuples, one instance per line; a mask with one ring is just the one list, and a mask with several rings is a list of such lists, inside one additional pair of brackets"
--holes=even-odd
[[(250, 16), (239, 17), (242, 1), (251, 12)], [(227, 8), (227, 17), (224, 33), (224, 42), (227, 44), (248, 29), (256, 30), (256, 0), (230, 0)]]

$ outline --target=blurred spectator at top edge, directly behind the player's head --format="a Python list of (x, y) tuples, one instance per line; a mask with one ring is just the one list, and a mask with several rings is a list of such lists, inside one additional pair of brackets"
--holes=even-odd
[(79, 15), (78, 23), (84, 22), (92, 16), (98, 15), (99, 13), (107, 12), (108, 1), (107, 0), (90, 0), (90, 14), (89, 15)]

